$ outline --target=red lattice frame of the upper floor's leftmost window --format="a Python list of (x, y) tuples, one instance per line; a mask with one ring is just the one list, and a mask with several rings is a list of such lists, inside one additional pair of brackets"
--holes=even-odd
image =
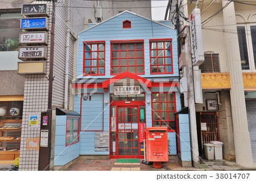
[[(105, 41), (83, 41), (83, 43), (84, 43), (84, 59), (83, 59), (83, 66), (82, 66), (82, 73), (83, 73), (83, 75), (105, 75), (105, 65), (106, 65), (106, 63), (105, 63), (105, 60), (106, 60), (106, 53), (105, 53), (105, 49), (106, 49), (106, 46), (105, 46)], [(99, 50), (98, 48), (98, 46), (100, 45), (100, 44), (104, 44), (104, 50)], [(90, 46), (92, 46), (92, 45), (97, 45), (97, 50), (96, 51), (93, 51), (92, 49), (90, 49), (90, 50), (86, 50), (85, 49), (85, 46), (86, 45), (90, 45)], [(90, 53), (90, 57), (86, 57), (86, 53)], [(100, 52), (104, 52), (104, 58), (99, 58), (99, 53)], [(92, 58), (92, 53), (97, 53), (97, 58)], [(102, 60), (103, 59), (103, 61), (104, 61), (104, 66), (99, 66), (99, 60)], [(85, 66), (85, 61), (86, 60), (90, 60), (90, 66)], [(97, 61), (97, 65), (96, 66), (93, 66), (92, 65), (92, 61), (93, 60), (96, 60)], [(85, 71), (85, 68), (90, 68), (90, 73), (88, 74), (88, 73), (86, 73), (86, 71)], [(95, 73), (92, 73), (94, 70), (93, 70), (93, 68), (97, 68), (97, 73), (95, 74)], [(104, 72), (103, 73), (99, 73), (99, 68), (104, 68)]]

